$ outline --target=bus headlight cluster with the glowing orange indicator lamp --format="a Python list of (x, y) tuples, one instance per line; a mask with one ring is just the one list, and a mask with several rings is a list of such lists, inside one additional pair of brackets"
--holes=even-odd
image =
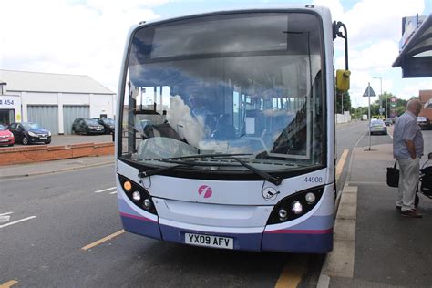
[(134, 181), (129, 180), (121, 175), (118, 175), (118, 180), (120, 180), (121, 187), (123, 188), (123, 191), (125, 191), (125, 194), (128, 196), (130, 201), (132, 201), (140, 209), (158, 215), (148, 190), (145, 190), (144, 187), (138, 183), (135, 183)]

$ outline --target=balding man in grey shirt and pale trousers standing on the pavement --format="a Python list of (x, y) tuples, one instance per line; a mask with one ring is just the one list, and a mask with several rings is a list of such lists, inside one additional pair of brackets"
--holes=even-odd
[(399, 190), (397, 191), (396, 209), (403, 216), (421, 218), (414, 202), (420, 173), (420, 158), (423, 156), (423, 136), (417, 124), (421, 103), (411, 99), (406, 105), (406, 112), (396, 120), (393, 133), (393, 156), (399, 162)]

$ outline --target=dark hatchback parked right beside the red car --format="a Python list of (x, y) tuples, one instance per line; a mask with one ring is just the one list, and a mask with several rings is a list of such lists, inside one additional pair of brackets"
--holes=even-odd
[(35, 122), (12, 123), (9, 130), (14, 133), (15, 141), (24, 145), (30, 143), (51, 143), (51, 132)]

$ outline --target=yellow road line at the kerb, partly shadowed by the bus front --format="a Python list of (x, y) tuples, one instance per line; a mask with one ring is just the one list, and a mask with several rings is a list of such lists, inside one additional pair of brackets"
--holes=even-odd
[(305, 257), (295, 256), (283, 267), (283, 271), (277, 280), (275, 288), (295, 288), (302, 280), (305, 271)]

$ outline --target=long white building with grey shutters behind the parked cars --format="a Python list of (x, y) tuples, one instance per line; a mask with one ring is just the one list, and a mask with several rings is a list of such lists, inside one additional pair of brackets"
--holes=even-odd
[(37, 122), (70, 134), (75, 118), (115, 117), (116, 94), (83, 75), (0, 70), (0, 123)]

